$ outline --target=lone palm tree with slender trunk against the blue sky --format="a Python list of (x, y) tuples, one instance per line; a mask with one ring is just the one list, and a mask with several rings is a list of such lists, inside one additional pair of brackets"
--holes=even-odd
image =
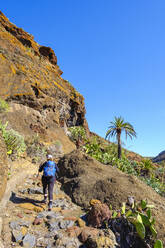
[(107, 137), (116, 137), (117, 145), (118, 145), (118, 158), (121, 158), (121, 133), (122, 131), (125, 132), (126, 139), (129, 136), (131, 139), (132, 137), (136, 137), (136, 132), (133, 126), (129, 122), (124, 122), (124, 119), (115, 116), (115, 120), (110, 122), (110, 126), (108, 127), (108, 131), (106, 132), (105, 139)]

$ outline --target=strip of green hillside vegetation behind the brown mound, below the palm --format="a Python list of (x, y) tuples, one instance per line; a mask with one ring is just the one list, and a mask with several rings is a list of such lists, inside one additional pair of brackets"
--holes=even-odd
[(123, 149), (121, 159), (117, 157), (117, 145), (110, 143), (98, 135), (91, 133), (87, 138), (83, 127), (72, 127), (71, 140), (99, 162), (114, 166), (124, 173), (134, 175), (157, 193), (165, 196), (165, 167), (164, 164), (154, 164), (150, 159)]

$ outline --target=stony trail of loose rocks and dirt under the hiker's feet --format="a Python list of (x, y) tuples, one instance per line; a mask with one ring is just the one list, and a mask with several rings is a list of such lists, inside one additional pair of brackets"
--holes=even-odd
[(66, 230), (76, 221), (81, 222), (81, 208), (71, 202), (56, 182), (53, 209), (49, 212), (47, 205), (41, 203), (41, 180), (36, 178), (35, 166), (29, 163), (29, 170), (24, 168), (25, 178), (21, 179), (20, 170), (13, 171), (1, 202), (0, 247), (79, 247), (79, 240)]

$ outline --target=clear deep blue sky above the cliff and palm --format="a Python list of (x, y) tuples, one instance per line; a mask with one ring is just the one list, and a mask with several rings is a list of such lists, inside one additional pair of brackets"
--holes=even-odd
[(165, 150), (164, 0), (5, 0), (11, 22), (54, 49), (63, 78), (84, 96), (91, 131), (122, 116), (144, 156)]

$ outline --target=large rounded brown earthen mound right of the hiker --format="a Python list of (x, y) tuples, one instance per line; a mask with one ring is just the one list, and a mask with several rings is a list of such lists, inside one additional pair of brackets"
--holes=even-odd
[(165, 198), (158, 195), (151, 187), (127, 175), (117, 168), (106, 166), (77, 150), (59, 160), (60, 182), (64, 191), (82, 207), (89, 207), (91, 199), (99, 199), (114, 209), (120, 209), (127, 197), (137, 202), (147, 200), (155, 206), (159, 238), (165, 243)]

